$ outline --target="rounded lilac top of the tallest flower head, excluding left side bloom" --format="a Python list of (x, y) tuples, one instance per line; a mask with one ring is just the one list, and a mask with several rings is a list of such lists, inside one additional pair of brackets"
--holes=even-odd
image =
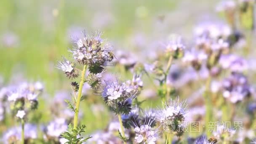
[(89, 67), (107, 66), (113, 59), (114, 55), (111, 52), (112, 46), (109, 44), (102, 45), (101, 32), (96, 31), (91, 37), (88, 37), (85, 32), (83, 37), (77, 38), (76, 46), (69, 50), (75, 61)]

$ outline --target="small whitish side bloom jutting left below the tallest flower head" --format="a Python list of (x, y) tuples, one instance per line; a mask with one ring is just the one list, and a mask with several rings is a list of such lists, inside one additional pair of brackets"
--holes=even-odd
[(66, 74), (66, 77), (68, 77), (68, 78), (78, 77), (78, 72), (75, 69), (75, 65), (71, 61), (68, 61), (64, 57), (62, 57), (62, 59), (63, 59), (63, 61), (58, 61), (56, 68), (64, 71)]

